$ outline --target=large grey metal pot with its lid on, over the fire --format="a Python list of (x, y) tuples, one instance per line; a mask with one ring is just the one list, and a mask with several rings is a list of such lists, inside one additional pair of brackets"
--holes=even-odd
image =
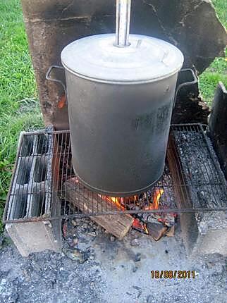
[(152, 187), (164, 171), (181, 52), (152, 37), (130, 35), (119, 48), (114, 35), (97, 35), (69, 44), (61, 61), (78, 178), (113, 197)]

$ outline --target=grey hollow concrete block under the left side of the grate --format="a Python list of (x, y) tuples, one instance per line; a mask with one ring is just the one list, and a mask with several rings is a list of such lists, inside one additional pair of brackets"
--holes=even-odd
[[(52, 194), (56, 192), (56, 180), (52, 178), (53, 135), (22, 134), (20, 143), (7, 220), (24, 221), (6, 223), (6, 230), (23, 256), (45, 249), (60, 252), (61, 218), (48, 220), (53, 215), (58, 217), (61, 208), (59, 198)], [(37, 220), (30, 221), (32, 218)]]

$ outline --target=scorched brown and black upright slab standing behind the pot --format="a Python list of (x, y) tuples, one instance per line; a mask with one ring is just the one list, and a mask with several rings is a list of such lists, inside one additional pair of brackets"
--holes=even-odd
[[(116, 1), (21, 2), (44, 121), (57, 129), (67, 129), (68, 109), (63, 101), (63, 89), (47, 81), (45, 74), (52, 64), (61, 64), (61, 50), (68, 43), (80, 37), (115, 31)], [(133, 0), (130, 32), (175, 44), (185, 55), (184, 66), (195, 68), (198, 73), (216, 56), (223, 55), (227, 44), (226, 31), (209, 0)], [(56, 77), (64, 80), (62, 72)], [(194, 91), (197, 94), (197, 87)], [(180, 122), (184, 119), (180, 115)]]

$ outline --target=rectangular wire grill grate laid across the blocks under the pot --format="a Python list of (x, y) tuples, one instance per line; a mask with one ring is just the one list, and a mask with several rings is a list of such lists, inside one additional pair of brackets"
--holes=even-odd
[(114, 199), (87, 190), (71, 158), (70, 131), (23, 132), (4, 222), (227, 210), (226, 180), (203, 125), (171, 125), (164, 174), (139, 196)]

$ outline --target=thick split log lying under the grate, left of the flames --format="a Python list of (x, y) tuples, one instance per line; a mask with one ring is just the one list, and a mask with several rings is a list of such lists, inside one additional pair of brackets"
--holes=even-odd
[[(119, 209), (114, 202), (109, 201), (109, 199), (104, 199), (103, 197), (100, 197), (99, 199), (98, 195), (90, 194), (89, 190), (85, 189), (81, 191), (81, 194), (78, 190), (80, 186), (82, 185), (78, 183), (77, 178), (66, 180), (64, 188), (66, 199), (70, 201), (70, 206), (78, 207), (78, 209), (85, 213), (92, 213), (94, 210), (101, 211), (101, 209), (105, 209), (106, 212), (121, 211), (121, 208)], [(133, 217), (129, 214), (92, 216), (90, 218), (119, 240), (123, 239), (133, 225)]]

